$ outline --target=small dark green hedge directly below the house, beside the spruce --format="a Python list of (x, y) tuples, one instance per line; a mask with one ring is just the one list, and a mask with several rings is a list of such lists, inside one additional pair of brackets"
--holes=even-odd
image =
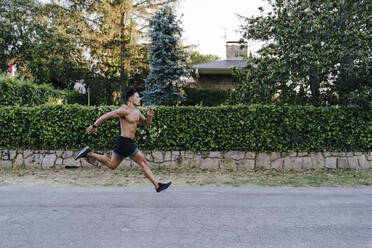
[(186, 93), (186, 101), (184, 105), (195, 106), (218, 106), (226, 103), (229, 98), (229, 90), (221, 89), (198, 89), (198, 88), (183, 88)]

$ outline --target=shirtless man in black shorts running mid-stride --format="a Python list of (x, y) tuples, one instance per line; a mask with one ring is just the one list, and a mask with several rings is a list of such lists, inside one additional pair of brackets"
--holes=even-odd
[(159, 183), (155, 180), (154, 175), (151, 172), (150, 167), (147, 165), (147, 161), (143, 153), (138, 150), (134, 143), (134, 136), (137, 130), (137, 124), (140, 122), (144, 126), (150, 126), (154, 111), (151, 108), (147, 110), (147, 118), (145, 118), (141, 112), (137, 109), (140, 106), (141, 98), (137, 91), (130, 89), (127, 92), (128, 105), (111, 112), (108, 112), (98, 118), (93, 125), (88, 127), (88, 133), (96, 133), (97, 127), (103, 122), (118, 118), (120, 120), (121, 136), (116, 140), (115, 149), (112, 153), (111, 160), (106, 156), (99, 155), (91, 151), (89, 146), (84, 147), (75, 157), (78, 160), (83, 157), (91, 157), (99, 162), (103, 163), (111, 169), (118, 167), (120, 162), (125, 157), (130, 157), (133, 161), (140, 165), (145, 176), (154, 184), (157, 192), (167, 189), (172, 182)]

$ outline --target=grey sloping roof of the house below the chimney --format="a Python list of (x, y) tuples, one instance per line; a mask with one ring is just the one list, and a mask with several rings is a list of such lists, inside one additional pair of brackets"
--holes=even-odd
[(204, 63), (204, 64), (197, 64), (194, 65), (192, 68), (194, 70), (197, 70), (198, 73), (222, 73), (222, 74), (230, 74), (231, 73), (231, 67), (245, 67), (247, 64), (246, 60), (219, 60), (215, 62), (210, 63)]

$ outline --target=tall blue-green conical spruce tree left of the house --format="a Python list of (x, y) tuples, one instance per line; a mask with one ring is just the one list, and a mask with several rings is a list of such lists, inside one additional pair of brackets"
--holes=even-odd
[(156, 12), (150, 22), (151, 70), (142, 100), (146, 105), (175, 105), (182, 100), (177, 89), (188, 74), (186, 55), (181, 49), (182, 28), (171, 7)]

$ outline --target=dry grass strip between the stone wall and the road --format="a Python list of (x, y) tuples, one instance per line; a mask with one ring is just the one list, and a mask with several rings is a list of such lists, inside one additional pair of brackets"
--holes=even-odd
[[(290, 186), (290, 187), (372, 187), (372, 170), (357, 171), (207, 171), (200, 169), (153, 169), (159, 181), (174, 185), (214, 186)], [(0, 169), (0, 185), (29, 184), (77, 187), (150, 186), (142, 171), (136, 169)]]

